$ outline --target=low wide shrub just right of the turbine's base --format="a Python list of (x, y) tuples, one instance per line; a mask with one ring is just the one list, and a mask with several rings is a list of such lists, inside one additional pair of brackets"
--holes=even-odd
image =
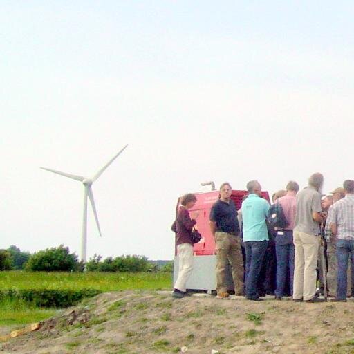
[(107, 257), (101, 261), (102, 257), (94, 255), (86, 263), (86, 270), (90, 272), (145, 272), (151, 270), (151, 265), (145, 256), (120, 256)]

